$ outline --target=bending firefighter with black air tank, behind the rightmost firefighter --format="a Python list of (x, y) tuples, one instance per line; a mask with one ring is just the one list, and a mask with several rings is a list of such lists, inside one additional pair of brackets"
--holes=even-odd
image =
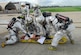
[[(51, 32), (52, 31), (54, 32), (54, 26), (52, 25), (51, 21), (55, 20), (55, 18), (52, 16), (52, 14), (50, 12), (43, 12), (43, 16), (45, 18), (44, 27), (46, 30), (46, 36), (48, 36), (48, 38), (49, 38), (49, 36), (52, 35)], [(52, 29), (52, 31), (51, 31), (51, 29)]]

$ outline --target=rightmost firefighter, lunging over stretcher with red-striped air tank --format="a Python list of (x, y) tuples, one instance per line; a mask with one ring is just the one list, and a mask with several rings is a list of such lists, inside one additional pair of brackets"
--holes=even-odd
[(50, 50), (57, 49), (56, 47), (59, 43), (59, 40), (61, 40), (63, 36), (67, 36), (70, 40), (70, 43), (74, 44), (74, 40), (72, 38), (72, 31), (75, 29), (75, 27), (73, 25), (72, 19), (60, 14), (56, 14), (55, 17), (58, 20), (56, 24), (58, 30), (54, 35), (54, 38), (51, 43), (51, 47), (49, 47)]

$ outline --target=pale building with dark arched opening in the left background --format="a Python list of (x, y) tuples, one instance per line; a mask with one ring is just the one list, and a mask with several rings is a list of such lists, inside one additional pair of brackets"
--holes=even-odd
[(1, 11), (3, 11), (4, 13), (20, 12), (21, 3), (27, 3), (27, 2), (0, 2), (0, 12)]

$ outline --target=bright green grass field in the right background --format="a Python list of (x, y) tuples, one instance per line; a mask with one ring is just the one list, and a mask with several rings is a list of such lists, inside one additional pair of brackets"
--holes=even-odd
[(53, 7), (53, 8), (41, 8), (41, 11), (49, 12), (71, 12), (71, 11), (81, 11), (81, 7)]

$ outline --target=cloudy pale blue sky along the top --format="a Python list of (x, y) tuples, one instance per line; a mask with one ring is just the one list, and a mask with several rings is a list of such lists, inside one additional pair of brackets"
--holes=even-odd
[(38, 4), (40, 6), (81, 6), (81, 0), (0, 0), (0, 2), (18, 2), (27, 1), (32, 4)]

